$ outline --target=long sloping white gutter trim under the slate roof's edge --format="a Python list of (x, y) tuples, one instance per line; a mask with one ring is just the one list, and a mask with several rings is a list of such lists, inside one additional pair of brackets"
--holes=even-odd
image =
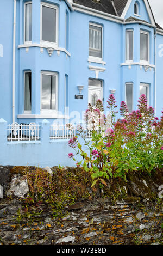
[(101, 19), (110, 20), (110, 21), (114, 21), (117, 23), (122, 23), (122, 21), (124, 20), (121, 17), (117, 17), (115, 15), (104, 13), (103, 11), (98, 11), (98, 10), (95, 10), (95, 9), (92, 9), (89, 7), (85, 7), (84, 5), (73, 3), (72, 6), (74, 7), (73, 9), (75, 11), (79, 11), (80, 13), (84, 13), (87, 15), (96, 16)]

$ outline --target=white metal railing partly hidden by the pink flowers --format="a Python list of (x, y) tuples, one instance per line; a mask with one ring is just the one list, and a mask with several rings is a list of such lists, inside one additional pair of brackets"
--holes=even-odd
[(66, 125), (51, 125), (50, 127), (50, 139), (70, 139), (76, 135), (76, 126), (72, 129), (68, 129)]

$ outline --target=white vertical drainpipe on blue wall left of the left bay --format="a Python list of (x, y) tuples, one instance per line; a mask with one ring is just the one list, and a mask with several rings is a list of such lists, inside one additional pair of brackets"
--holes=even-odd
[(12, 69), (12, 123), (15, 123), (15, 45), (16, 45), (16, 0), (14, 0), (13, 22), (13, 69)]

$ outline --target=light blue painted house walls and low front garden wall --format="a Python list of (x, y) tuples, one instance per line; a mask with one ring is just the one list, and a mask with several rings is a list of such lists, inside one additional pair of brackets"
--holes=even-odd
[[(160, 117), (163, 102), (163, 33), (156, 35), (156, 58), (154, 28), (139, 23), (114, 22), (101, 17), (84, 14), (80, 11), (71, 11), (64, 0), (44, 1), (55, 4), (59, 8), (59, 51), (54, 50), (51, 57), (45, 47), (40, 44), (40, 13), (41, 0), (32, 0), (32, 44), (24, 46), (24, 3), (25, 0), (17, 0), (16, 7), (16, 60), (15, 60), (15, 121), (18, 123), (36, 124), (46, 118), (49, 123), (66, 124), (69, 122), (80, 123), (83, 112), (88, 103), (88, 80), (96, 78), (94, 70), (89, 67), (105, 69), (99, 71), (98, 79), (103, 81), (104, 108), (107, 111), (106, 100), (110, 90), (115, 89), (115, 97), (120, 106), (125, 100), (125, 84), (133, 83), (133, 107), (137, 108), (140, 83), (149, 84), (149, 106), (155, 106), (156, 88), (156, 115)], [(134, 15), (134, 3), (127, 11), (125, 19), (130, 16), (141, 20), (149, 20), (149, 16), (143, 0), (139, 3), (140, 17)], [(66, 13), (68, 25), (65, 26)], [(12, 123), (12, 46), (13, 46), (13, 19), (14, 1), (2, 0), (0, 3), (0, 118)], [(97, 23), (103, 27), (103, 62), (89, 62), (89, 22)], [(126, 29), (134, 30), (134, 60), (126, 63)], [(140, 29), (149, 32), (150, 35), (150, 62), (148, 70), (140, 63)], [(66, 39), (66, 34), (67, 39)], [(35, 44), (35, 45), (34, 45)], [(32, 46), (32, 47), (28, 47)], [(68, 52), (67, 52), (67, 51)], [(133, 65), (134, 64), (134, 65)], [(156, 64), (156, 65), (155, 65)], [(36, 117), (24, 117), (24, 71), (32, 71), (32, 115)], [(41, 71), (52, 71), (58, 74), (58, 115), (56, 118), (40, 115), (41, 103)], [(67, 77), (68, 90), (66, 99), (70, 119), (65, 114), (65, 75)], [(155, 79), (156, 78), (156, 79)], [(156, 81), (156, 84), (155, 84)], [(84, 86), (83, 100), (74, 99), (79, 94), (78, 86)], [(59, 117), (60, 115), (60, 117)], [(2, 129), (4, 130), (4, 129)], [(3, 164), (40, 164), (40, 166), (53, 166), (57, 164), (72, 165), (72, 161), (65, 158), (70, 149), (66, 141), (37, 143), (7, 143), (6, 133), (0, 134), (2, 148), (0, 163)], [(10, 158), (9, 158), (10, 156)], [(20, 157), (21, 156), (21, 157)], [(24, 157), (25, 156), (25, 157)]]

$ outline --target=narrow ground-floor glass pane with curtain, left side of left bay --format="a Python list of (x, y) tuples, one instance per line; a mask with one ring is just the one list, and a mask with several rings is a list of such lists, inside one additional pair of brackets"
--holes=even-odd
[(31, 72), (25, 73), (25, 86), (24, 86), (24, 110), (31, 110)]

